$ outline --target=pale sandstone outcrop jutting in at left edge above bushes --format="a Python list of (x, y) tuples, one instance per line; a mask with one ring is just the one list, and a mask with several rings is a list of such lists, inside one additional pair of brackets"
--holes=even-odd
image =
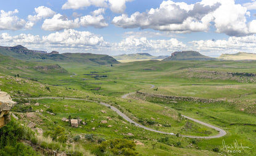
[(0, 128), (10, 121), (9, 111), (16, 103), (6, 92), (0, 92)]

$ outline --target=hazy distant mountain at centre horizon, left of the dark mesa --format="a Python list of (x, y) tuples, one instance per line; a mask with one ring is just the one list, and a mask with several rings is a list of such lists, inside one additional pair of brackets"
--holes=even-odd
[(132, 53), (132, 54), (122, 54), (115, 56), (116, 60), (154, 60), (154, 59), (164, 59), (168, 56), (154, 57), (149, 53)]

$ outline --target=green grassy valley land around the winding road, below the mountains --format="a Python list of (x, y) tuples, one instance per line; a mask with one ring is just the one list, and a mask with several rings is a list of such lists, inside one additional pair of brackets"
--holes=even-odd
[[(0, 59), (0, 88), (12, 98), (22, 98), (15, 99), (18, 104), (13, 112), (19, 117), (17, 123), (25, 127), (30, 122), (35, 124), (35, 137), (22, 135), (22, 139), (40, 147), (39, 152), (48, 149), (73, 155), (256, 154), (256, 61), (151, 60), (103, 66), (20, 61), (3, 55)], [(8, 69), (7, 64), (13, 69)], [(61, 70), (35, 68), (52, 64), (58, 64), (57, 69)], [(133, 94), (129, 99), (121, 98), (136, 91), (162, 96)], [(61, 98), (26, 99), (49, 96)], [(165, 96), (177, 99), (162, 98)], [(135, 127), (100, 102), (117, 107), (145, 127), (177, 135)], [(182, 138), (180, 135), (218, 133), (184, 119), (182, 114), (220, 127), (227, 135), (215, 139)], [(63, 118), (81, 119), (81, 124), (72, 128)], [(36, 128), (41, 128), (42, 134)], [(21, 144), (20, 139), (15, 140), (15, 144)], [(228, 152), (236, 141), (241, 153)], [(8, 146), (16, 147), (15, 144)]]

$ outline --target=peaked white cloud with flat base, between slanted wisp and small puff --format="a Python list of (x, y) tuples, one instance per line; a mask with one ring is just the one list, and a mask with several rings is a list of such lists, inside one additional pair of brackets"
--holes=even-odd
[(44, 20), (42, 29), (49, 31), (60, 31), (62, 29), (79, 28), (79, 18), (68, 20), (68, 18), (61, 14), (56, 14), (50, 19)]

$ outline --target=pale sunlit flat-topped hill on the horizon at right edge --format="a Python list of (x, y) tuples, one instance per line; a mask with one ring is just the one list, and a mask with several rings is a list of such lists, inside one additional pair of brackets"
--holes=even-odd
[(234, 54), (224, 53), (218, 57), (220, 60), (256, 60), (255, 53), (238, 52)]

